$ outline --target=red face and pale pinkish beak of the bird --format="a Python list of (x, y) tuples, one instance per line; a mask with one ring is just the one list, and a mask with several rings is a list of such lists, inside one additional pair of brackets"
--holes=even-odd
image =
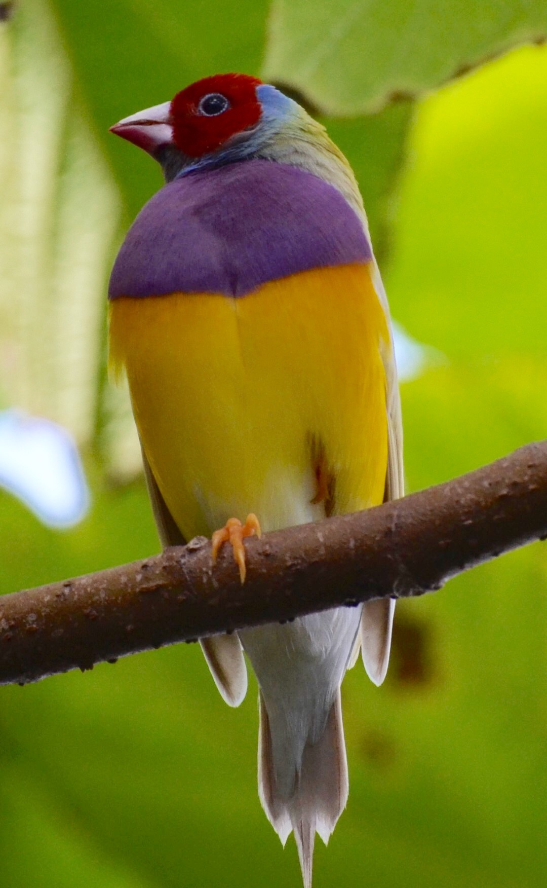
[(219, 74), (204, 77), (170, 102), (125, 117), (111, 130), (155, 155), (174, 145), (186, 157), (201, 157), (258, 123), (258, 77)]

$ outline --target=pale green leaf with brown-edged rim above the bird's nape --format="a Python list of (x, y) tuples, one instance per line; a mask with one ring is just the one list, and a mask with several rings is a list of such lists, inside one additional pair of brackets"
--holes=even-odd
[(273, 0), (264, 73), (356, 115), (546, 34), (543, 0)]

